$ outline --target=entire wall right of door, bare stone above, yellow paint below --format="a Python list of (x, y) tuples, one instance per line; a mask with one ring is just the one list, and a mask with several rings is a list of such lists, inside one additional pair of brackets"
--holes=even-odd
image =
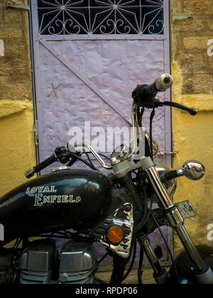
[[(206, 167), (200, 181), (179, 178), (174, 199), (188, 199), (197, 209), (195, 218), (185, 220), (194, 243), (213, 246), (212, 1), (171, 0), (170, 4), (173, 101), (198, 110), (196, 116), (190, 116), (173, 109), (173, 141), (178, 152), (174, 167), (190, 159), (200, 160)], [(180, 250), (182, 244), (175, 235), (175, 254)]]

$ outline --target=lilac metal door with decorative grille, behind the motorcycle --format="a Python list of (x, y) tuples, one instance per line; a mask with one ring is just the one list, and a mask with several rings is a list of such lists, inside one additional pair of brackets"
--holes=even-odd
[[(168, 5), (168, 0), (31, 0), (40, 161), (77, 132), (109, 155), (115, 140), (108, 132), (131, 128), (132, 90), (170, 72)], [(170, 91), (158, 98), (170, 100)], [(146, 128), (149, 116), (146, 111)], [(170, 108), (156, 111), (153, 137), (162, 153), (156, 162), (171, 164), (164, 154), (171, 151), (170, 121)], [(171, 244), (168, 228), (165, 236)], [(151, 240), (153, 247), (159, 244), (158, 233)], [(165, 249), (163, 260), (168, 264)]]

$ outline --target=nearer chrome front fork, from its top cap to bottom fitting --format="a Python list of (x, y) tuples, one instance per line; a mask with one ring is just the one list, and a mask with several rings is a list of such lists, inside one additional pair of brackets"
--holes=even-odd
[(180, 214), (178, 207), (173, 204), (167, 190), (165, 189), (163, 183), (160, 181), (158, 172), (155, 170), (151, 158), (143, 159), (142, 169), (146, 172), (149, 182), (151, 182), (153, 190), (160, 202), (160, 206), (163, 207), (163, 211), (168, 220), (168, 223), (170, 223), (170, 226), (174, 228), (175, 231), (178, 233), (182, 245), (185, 247), (187, 254), (195, 265), (195, 276), (197, 277), (197, 280), (201, 284), (213, 284), (212, 270), (211, 268), (204, 265), (200, 253), (198, 253), (197, 248), (195, 247), (189, 234), (187, 233), (187, 230), (185, 229), (184, 219), (182, 219), (182, 215)]

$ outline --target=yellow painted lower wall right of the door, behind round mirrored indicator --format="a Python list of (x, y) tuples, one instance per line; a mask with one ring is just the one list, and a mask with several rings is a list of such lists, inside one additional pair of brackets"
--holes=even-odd
[[(206, 174), (197, 182), (185, 177), (178, 179), (175, 202), (188, 199), (197, 209), (195, 218), (185, 220), (185, 226), (194, 243), (213, 245), (213, 241), (207, 238), (211, 232), (207, 228), (213, 223), (213, 95), (182, 94), (182, 73), (175, 62), (172, 72), (175, 82), (178, 82), (173, 89), (173, 101), (198, 110), (196, 116), (173, 110), (173, 141), (175, 150), (178, 151), (173, 160), (174, 168), (181, 167), (183, 162), (190, 159), (200, 160), (206, 168)], [(180, 250), (182, 244), (175, 236), (175, 252), (179, 253)]]

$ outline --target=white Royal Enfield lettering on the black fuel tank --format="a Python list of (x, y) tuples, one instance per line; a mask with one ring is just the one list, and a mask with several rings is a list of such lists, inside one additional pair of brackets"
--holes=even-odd
[(35, 197), (34, 206), (43, 206), (43, 204), (78, 204), (81, 202), (82, 198), (73, 195), (56, 195), (57, 189), (55, 185), (53, 186), (43, 186), (43, 187), (28, 187), (26, 194), (30, 197)]

